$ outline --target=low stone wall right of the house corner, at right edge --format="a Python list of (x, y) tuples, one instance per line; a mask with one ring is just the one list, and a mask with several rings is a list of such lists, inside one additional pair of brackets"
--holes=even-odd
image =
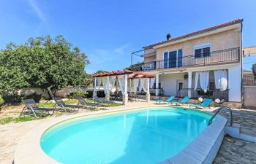
[(256, 86), (245, 85), (243, 89), (244, 108), (256, 109)]

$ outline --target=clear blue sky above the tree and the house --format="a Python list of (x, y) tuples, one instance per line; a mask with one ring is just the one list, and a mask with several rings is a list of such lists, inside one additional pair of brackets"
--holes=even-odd
[[(86, 72), (129, 66), (143, 46), (244, 19), (243, 46), (256, 46), (255, 0), (1, 0), (0, 49), (29, 37), (61, 34), (88, 56)], [(135, 62), (142, 58), (135, 58)], [(244, 58), (251, 69), (256, 55)]]

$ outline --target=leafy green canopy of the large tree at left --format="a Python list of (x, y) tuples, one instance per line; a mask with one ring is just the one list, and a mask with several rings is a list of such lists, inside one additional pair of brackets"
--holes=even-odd
[(87, 56), (63, 36), (29, 38), (0, 50), (0, 90), (86, 85)]

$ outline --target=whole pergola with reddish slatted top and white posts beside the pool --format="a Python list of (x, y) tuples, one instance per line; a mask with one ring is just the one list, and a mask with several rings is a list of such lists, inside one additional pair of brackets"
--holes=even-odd
[[(122, 78), (123, 80), (118, 79), (119, 85), (123, 86), (122, 94), (123, 94), (123, 104), (128, 103), (128, 94), (127, 94), (127, 83), (128, 79), (145, 79), (146, 78), (146, 101), (150, 101), (150, 93), (149, 93), (149, 79), (154, 78), (154, 75), (151, 74), (144, 74), (139, 71), (130, 71), (130, 70), (123, 70), (123, 71), (110, 71), (105, 73), (99, 73), (99, 74), (91, 74), (91, 77), (94, 77), (94, 96), (97, 95), (97, 80), (100, 80), (100, 78), (105, 78), (105, 99), (107, 101), (110, 100), (110, 77), (116, 76), (116, 78)], [(116, 80), (116, 79), (115, 79)], [(121, 84), (120, 84), (121, 83)]]

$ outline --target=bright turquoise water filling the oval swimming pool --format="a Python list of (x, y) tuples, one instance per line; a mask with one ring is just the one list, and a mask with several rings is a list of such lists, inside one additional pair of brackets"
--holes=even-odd
[(85, 117), (47, 130), (41, 147), (65, 164), (159, 163), (187, 147), (210, 117), (177, 108)]

